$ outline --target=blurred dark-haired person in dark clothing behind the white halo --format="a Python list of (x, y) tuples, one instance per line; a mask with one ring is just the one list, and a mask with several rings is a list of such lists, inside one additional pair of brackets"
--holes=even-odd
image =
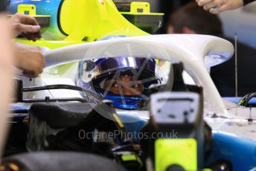
[[(199, 33), (233, 39), (223, 36), (222, 23), (218, 16), (208, 13), (195, 2), (186, 4), (170, 15), (167, 33)], [(256, 50), (237, 43), (238, 96), (256, 91)], [(211, 68), (211, 78), (223, 97), (235, 96), (234, 57)]]

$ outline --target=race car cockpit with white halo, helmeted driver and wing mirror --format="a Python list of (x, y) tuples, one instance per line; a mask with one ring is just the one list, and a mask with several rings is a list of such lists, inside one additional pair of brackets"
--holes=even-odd
[[(203, 50), (199, 48), (202, 45)], [(246, 148), (246, 154), (253, 156), (255, 141), (242, 142), (240, 137), (215, 131), (217, 126), (225, 126), (217, 123), (226, 116), (227, 108), (215, 92), (205, 63), (211, 66), (228, 59), (232, 49), (228, 42), (213, 36), (170, 35), (97, 41), (45, 52), (46, 65), (54, 67), (45, 71), (40, 82), (35, 80), (35, 85), (22, 86), (19, 91), (30, 94), (13, 104), (4, 155), (28, 151), (41, 155), (37, 152), (49, 150), (90, 152), (127, 170), (145, 170), (148, 159), (155, 170), (252, 168), (254, 158), (245, 165), (237, 161), (240, 155), (221, 152), (238, 154), (234, 149)], [(219, 56), (205, 57), (205, 53)], [(172, 63), (166, 83), (156, 57)], [(183, 66), (196, 83), (202, 83), (204, 91), (198, 85), (185, 85)], [(67, 73), (74, 82), (63, 78)], [(68, 91), (57, 90), (61, 88)], [(138, 110), (141, 101), (149, 104), (144, 111)], [(235, 125), (228, 128), (232, 127)], [(184, 160), (184, 156), (191, 158)], [(24, 157), (16, 158), (20, 161)], [(13, 158), (4, 159), (4, 166), (10, 162)]]

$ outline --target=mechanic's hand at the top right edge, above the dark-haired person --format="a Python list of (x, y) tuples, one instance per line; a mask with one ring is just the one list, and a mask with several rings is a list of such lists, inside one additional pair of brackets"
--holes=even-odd
[(220, 13), (243, 6), (243, 0), (196, 0), (196, 2), (210, 13)]

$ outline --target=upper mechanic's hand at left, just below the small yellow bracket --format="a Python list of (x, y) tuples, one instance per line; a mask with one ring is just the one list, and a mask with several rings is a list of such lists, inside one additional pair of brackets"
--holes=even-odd
[(34, 42), (41, 38), (40, 26), (32, 16), (16, 13), (9, 21), (13, 29), (13, 37), (22, 35)]

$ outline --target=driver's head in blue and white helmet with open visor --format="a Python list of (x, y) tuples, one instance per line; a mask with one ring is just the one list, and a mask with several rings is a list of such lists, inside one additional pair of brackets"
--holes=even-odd
[(96, 91), (119, 109), (138, 109), (139, 101), (149, 98), (149, 86), (159, 83), (156, 61), (135, 57), (80, 62), (77, 79), (78, 86)]

